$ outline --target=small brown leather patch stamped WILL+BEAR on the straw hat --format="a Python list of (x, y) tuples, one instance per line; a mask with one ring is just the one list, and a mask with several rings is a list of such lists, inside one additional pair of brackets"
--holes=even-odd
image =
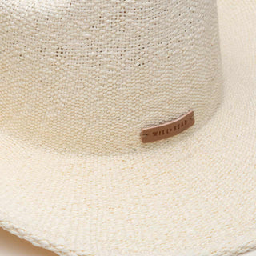
[(194, 111), (182, 115), (171, 122), (159, 126), (153, 126), (142, 129), (142, 142), (155, 142), (163, 138), (169, 138), (181, 133), (194, 125)]

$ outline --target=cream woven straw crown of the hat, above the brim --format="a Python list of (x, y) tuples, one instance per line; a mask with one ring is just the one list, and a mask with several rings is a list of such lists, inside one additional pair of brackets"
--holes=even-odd
[(2, 5), (0, 124), (18, 138), (74, 153), (142, 150), (142, 128), (194, 110), (198, 129), (218, 107), (215, 1)]

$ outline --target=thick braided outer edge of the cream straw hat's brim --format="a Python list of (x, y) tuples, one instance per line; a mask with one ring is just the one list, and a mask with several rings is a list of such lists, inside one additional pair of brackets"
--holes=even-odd
[[(6, 217), (4, 217), (6, 215)], [(97, 252), (90, 253), (78, 250), (71, 250), (66, 248), (62, 244), (57, 244), (54, 242), (50, 242), (47, 239), (40, 239), (35, 237), (33, 234), (25, 232), (25, 228), (22, 226), (18, 226), (14, 222), (11, 222), (8, 219), (14, 219), (8, 216), (0, 209), (0, 227), (10, 234), (16, 235), (18, 238), (25, 239), (27, 242), (30, 242), (33, 246), (37, 246), (46, 250), (50, 250), (55, 254), (60, 256), (130, 256), (131, 253), (126, 250), (98, 250)], [(246, 242), (245, 242), (246, 241)], [(233, 240), (234, 242), (234, 240)], [(146, 251), (140, 254), (133, 254), (133, 256), (170, 256), (170, 255), (177, 255), (177, 256), (198, 256), (198, 255), (214, 255), (214, 256), (233, 256), (238, 254), (244, 254), (250, 252), (252, 250), (256, 250), (256, 230), (248, 230), (246, 234), (239, 235), (235, 238), (235, 242), (239, 244), (235, 248), (234, 246), (230, 245), (230, 240), (226, 240), (225, 243), (222, 241), (222, 246), (219, 246), (219, 242), (211, 243), (209, 246), (204, 248), (203, 250), (182, 250), (179, 252), (159, 252), (157, 251)], [(159, 254), (160, 253), (160, 254)]]

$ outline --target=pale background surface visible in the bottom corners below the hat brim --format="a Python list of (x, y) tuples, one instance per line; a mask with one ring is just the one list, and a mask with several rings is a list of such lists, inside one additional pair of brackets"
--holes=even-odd
[[(30, 242), (0, 228), (0, 256), (57, 256), (57, 254), (32, 246)], [(243, 256), (256, 256), (256, 251)]]

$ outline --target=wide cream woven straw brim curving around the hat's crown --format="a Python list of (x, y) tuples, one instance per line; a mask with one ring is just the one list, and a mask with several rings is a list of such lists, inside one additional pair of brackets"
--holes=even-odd
[(224, 99), (178, 144), (66, 157), (1, 133), (0, 226), (61, 255), (256, 248), (255, 9), (254, 1), (218, 2)]

